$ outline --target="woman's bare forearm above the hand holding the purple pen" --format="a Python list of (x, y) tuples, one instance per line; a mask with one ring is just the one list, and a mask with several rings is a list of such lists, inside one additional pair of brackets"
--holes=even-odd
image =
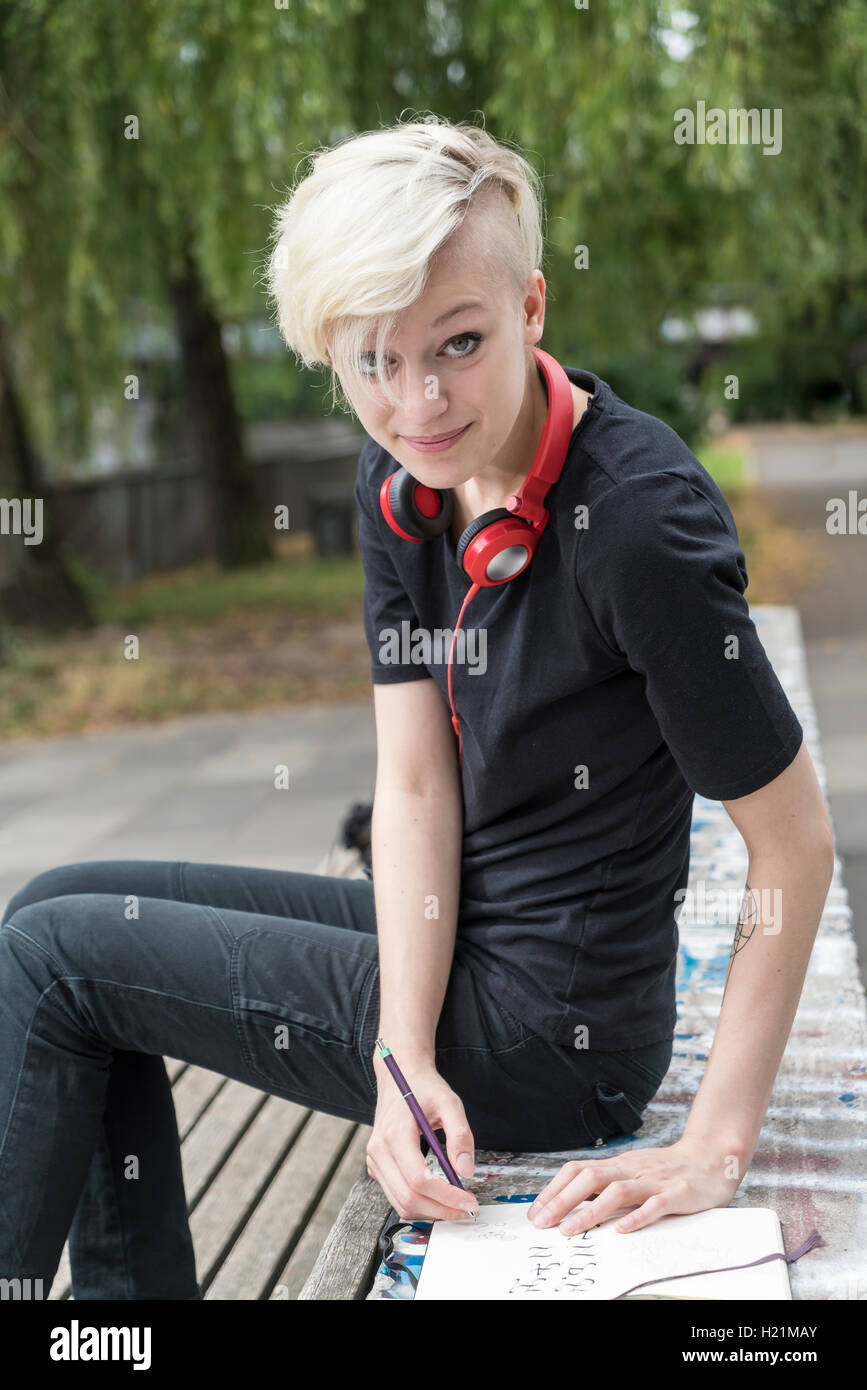
[(379, 1034), (399, 1059), (434, 1061), (460, 894), (456, 780), (424, 791), (377, 784), (371, 817), (379, 940)]

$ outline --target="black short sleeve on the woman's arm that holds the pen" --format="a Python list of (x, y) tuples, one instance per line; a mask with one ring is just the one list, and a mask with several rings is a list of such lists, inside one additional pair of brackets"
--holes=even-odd
[[(358, 507), (358, 549), (364, 567), (364, 634), (371, 655), (371, 681), (388, 685), (397, 681), (418, 681), (431, 673), (427, 666), (411, 660), (410, 632), (420, 626), (413, 602), (397, 574), (383, 535), (385, 520), (377, 517), (378, 488), (370, 482), (370, 463), (379, 446), (368, 439), (361, 449), (354, 496)], [(389, 532), (390, 535), (390, 532)], [(393, 537), (395, 545), (400, 543)], [(411, 545), (410, 541), (404, 542)], [(408, 627), (403, 627), (407, 623)]]

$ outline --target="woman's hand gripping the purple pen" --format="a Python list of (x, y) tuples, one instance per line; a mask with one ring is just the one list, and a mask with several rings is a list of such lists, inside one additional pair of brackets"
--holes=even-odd
[[(446, 1155), (456, 1173), (472, 1176), (475, 1144), (461, 1099), (432, 1061), (407, 1063), (407, 1080), (432, 1130), (446, 1131)], [(377, 1049), (377, 1113), (367, 1144), (367, 1172), (404, 1220), (460, 1220), (478, 1216), (472, 1193), (432, 1173), (421, 1155), (418, 1126)], [(464, 1156), (461, 1156), (464, 1155)]]

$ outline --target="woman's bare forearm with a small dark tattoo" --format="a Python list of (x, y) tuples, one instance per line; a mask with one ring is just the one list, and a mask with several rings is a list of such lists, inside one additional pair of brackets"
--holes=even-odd
[(803, 988), (834, 856), (789, 849), (752, 856), (720, 1019), (685, 1137), (710, 1140), (742, 1177)]

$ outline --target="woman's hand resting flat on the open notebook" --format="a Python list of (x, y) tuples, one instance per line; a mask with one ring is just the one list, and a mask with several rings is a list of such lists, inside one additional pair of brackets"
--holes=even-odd
[[(746, 1170), (748, 1165), (742, 1166)], [(528, 1215), (539, 1230), (559, 1226), (564, 1236), (572, 1236), (632, 1207), (638, 1209), (616, 1222), (614, 1230), (639, 1230), (675, 1212), (727, 1207), (742, 1177), (736, 1155), (684, 1137), (668, 1148), (635, 1148), (617, 1158), (564, 1163)], [(599, 1195), (588, 1201), (593, 1193)], [(579, 1202), (586, 1205), (577, 1212)], [(574, 1215), (564, 1220), (570, 1212)]]

